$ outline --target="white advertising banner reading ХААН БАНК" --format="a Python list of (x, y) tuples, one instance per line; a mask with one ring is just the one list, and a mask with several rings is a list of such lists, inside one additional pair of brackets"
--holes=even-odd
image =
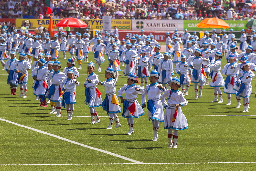
[(132, 30), (183, 30), (183, 20), (132, 20)]

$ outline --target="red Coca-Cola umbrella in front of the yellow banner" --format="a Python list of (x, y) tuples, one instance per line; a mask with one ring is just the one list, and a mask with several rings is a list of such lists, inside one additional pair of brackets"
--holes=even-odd
[(76, 27), (85, 28), (88, 27), (86, 23), (78, 18), (64, 18), (56, 24), (57, 27)]

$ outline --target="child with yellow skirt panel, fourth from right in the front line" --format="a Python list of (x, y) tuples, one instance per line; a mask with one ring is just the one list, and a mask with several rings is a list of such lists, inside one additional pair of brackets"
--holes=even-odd
[(98, 82), (98, 85), (105, 86), (105, 93), (106, 97), (102, 102), (102, 108), (107, 112), (109, 115), (109, 126), (108, 130), (112, 129), (113, 121), (115, 121), (115, 128), (119, 128), (121, 124), (119, 123), (118, 116), (116, 113), (120, 113), (121, 107), (120, 103), (118, 101), (118, 98), (115, 94), (116, 88), (115, 88), (115, 76), (114, 76), (114, 68), (108, 67), (105, 70), (105, 78), (106, 80), (103, 82)]

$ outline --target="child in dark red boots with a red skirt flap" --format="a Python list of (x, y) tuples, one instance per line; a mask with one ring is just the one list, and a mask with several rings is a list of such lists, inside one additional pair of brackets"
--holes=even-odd
[[(47, 88), (47, 75), (49, 74), (49, 70), (45, 65), (44, 59), (38, 60), (38, 66), (35, 67), (32, 70), (31, 76), (34, 78), (35, 82), (33, 84), (34, 88), (34, 95), (36, 97), (39, 97), (39, 100), (41, 101)], [(41, 101), (40, 106), (42, 107), (48, 107), (46, 100)]]

